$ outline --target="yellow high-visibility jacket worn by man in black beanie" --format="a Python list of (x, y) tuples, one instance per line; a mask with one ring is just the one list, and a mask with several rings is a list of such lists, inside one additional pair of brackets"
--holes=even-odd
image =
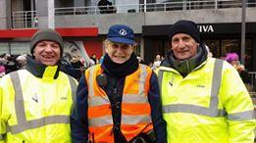
[(169, 143), (253, 143), (252, 101), (230, 64), (208, 58), (185, 77), (157, 73)]

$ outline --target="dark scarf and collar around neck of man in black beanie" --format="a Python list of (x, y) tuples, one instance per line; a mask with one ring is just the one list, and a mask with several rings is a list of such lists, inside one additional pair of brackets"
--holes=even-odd
[(188, 59), (179, 61), (176, 60), (173, 51), (168, 52), (165, 61), (162, 63), (162, 66), (173, 68), (184, 77), (189, 72), (193, 71), (197, 67), (199, 67), (202, 63), (207, 60), (207, 51), (204, 45), (200, 45), (197, 50), (197, 54)]

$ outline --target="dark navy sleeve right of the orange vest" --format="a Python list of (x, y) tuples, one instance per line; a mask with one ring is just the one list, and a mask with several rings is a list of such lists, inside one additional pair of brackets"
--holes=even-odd
[(150, 78), (148, 100), (157, 143), (167, 143), (166, 121), (163, 119), (158, 78), (155, 72), (152, 73)]

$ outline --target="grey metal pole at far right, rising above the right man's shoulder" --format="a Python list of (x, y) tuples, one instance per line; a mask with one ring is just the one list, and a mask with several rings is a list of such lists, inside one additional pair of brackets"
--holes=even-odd
[(241, 15), (241, 64), (244, 65), (245, 56), (245, 24), (246, 24), (246, 0), (242, 1), (242, 15)]

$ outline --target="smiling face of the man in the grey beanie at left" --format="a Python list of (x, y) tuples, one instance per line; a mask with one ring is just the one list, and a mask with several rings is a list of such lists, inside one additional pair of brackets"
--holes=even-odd
[(55, 66), (61, 58), (61, 47), (57, 42), (40, 41), (33, 50), (35, 61), (46, 66)]

